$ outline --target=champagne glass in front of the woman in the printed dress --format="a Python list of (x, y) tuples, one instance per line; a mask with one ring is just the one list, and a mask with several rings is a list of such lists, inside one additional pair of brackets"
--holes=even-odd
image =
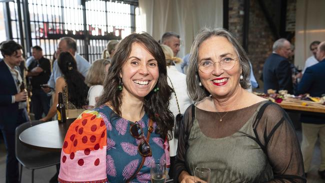
[(166, 181), (166, 161), (164, 159), (155, 159), (151, 161), (151, 182), (164, 183)]

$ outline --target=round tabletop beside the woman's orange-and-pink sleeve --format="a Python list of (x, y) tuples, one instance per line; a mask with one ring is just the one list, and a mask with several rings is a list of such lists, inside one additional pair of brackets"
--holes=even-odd
[(31, 126), (20, 133), (19, 140), (37, 150), (61, 151), (66, 131), (74, 119), (67, 119), (65, 123), (52, 120)]

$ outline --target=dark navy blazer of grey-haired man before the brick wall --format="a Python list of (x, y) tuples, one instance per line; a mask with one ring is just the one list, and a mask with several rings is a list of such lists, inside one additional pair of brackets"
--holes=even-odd
[(264, 93), (267, 89), (286, 89), (293, 94), (292, 75), (289, 61), (276, 53), (272, 53), (263, 65)]

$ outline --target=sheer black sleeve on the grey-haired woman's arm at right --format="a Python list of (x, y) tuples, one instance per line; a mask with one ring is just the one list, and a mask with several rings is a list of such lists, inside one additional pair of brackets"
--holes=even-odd
[(300, 145), (287, 113), (277, 104), (265, 103), (253, 130), (273, 170), (269, 182), (306, 182)]

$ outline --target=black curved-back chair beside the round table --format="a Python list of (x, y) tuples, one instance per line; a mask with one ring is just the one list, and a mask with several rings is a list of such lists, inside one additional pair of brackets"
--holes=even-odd
[[(32, 120), (17, 126), (15, 131), (15, 154), (20, 163), (19, 182), (21, 182), (22, 166), (31, 169), (31, 182), (34, 182), (34, 170), (52, 165), (58, 167), (60, 163), (60, 152), (49, 152), (35, 150), (22, 144), (19, 140), (19, 134), (30, 126), (37, 125), (43, 121)], [(46, 138), (46, 136), (44, 136)]]

